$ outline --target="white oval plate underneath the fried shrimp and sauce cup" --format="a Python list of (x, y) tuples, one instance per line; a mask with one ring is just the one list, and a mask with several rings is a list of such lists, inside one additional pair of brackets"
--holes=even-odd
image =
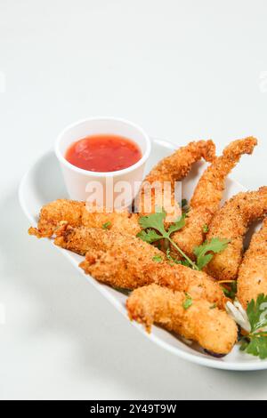
[[(158, 161), (171, 154), (177, 146), (167, 141), (154, 140), (150, 159), (146, 167), (146, 171), (149, 172), (153, 165), (156, 165)], [(194, 165), (194, 168), (190, 175), (182, 182), (182, 194), (183, 197), (190, 199), (193, 189), (198, 181), (199, 175), (203, 172), (206, 164), (198, 163)], [(239, 191), (246, 190), (237, 181), (232, 179), (227, 180), (226, 190), (223, 200), (239, 193)], [(28, 173), (25, 174), (20, 182), (20, 205), (28, 217), (28, 221), (31, 225), (35, 225), (38, 219), (38, 213), (41, 206), (47, 204), (58, 198), (68, 197), (63, 179), (61, 176), (60, 166), (58, 161), (50, 151), (40, 157), (36, 164), (33, 165)], [(53, 240), (51, 240), (53, 245)], [(37, 243), (36, 243), (37, 245)], [(77, 271), (83, 274), (85, 279), (88, 280), (91, 285), (96, 287), (102, 295), (112, 303), (112, 305), (118, 309), (118, 311), (127, 318), (127, 312), (125, 309), (126, 296), (123, 293), (119, 293), (107, 285), (103, 285), (91, 276), (85, 275), (82, 269), (78, 267), (79, 262), (83, 259), (81, 256), (71, 253), (67, 250), (63, 250), (57, 246), (62, 254), (68, 257), (69, 261), (76, 266)], [(197, 344), (188, 345), (177, 338), (173, 334), (167, 333), (164, 329), (153, 326), (151, 334), (147, 334), (143, 327), (135, 322), (132, 324), (142, 332), (152, 342), (155, 342), (161, 348), (166, 351), (172, 352), (174, 355), (189, 360), (198, 365), (214, 367), (225, 370), (260, 370), (267, 369), (267, 361), (254, 358), (239, 351), (239, 347), (236, 346), (231, 353), (224, 358), (212, 358), (206, 355)]]

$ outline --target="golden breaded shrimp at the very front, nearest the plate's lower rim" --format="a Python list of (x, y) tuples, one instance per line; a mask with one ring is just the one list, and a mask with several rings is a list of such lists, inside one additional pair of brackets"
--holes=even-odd
[(235, 322), (209, 301), (192, 300), (188, 309), (187, 295), (158, 285), (134, 290), (126, 301), (129, 318), (144, 324), (148, 331), (155, 323), (168, 331), (198, 342), (216, 354), (228, 354), (238, 339)]

